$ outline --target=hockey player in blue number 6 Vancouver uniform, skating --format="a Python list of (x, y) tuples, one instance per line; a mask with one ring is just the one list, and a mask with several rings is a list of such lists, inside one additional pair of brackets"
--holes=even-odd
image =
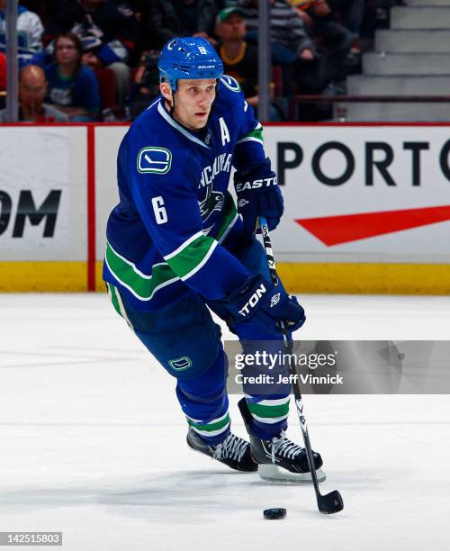
[[(161, 96), (119, 149), (120, 203), (108, 221), (103, 266), (112, 303), (175, 376), (190, 447), (241, 471), (274, 463), (306, 473), (304, 448), (284, 435), (289, 385), (239, 402), (250, 443), (230, 432), (226, 357), (208, 309), (244, 347), (282, 343), (278, 321), (290, 331), (305, 321), (296, 299), (271, 283), (254, 235), (260, 215), (272, 230), (284, 210), (261, 125), (204, 39), (168, 41), (158, 68)], [(322, 464), (317, 453), (315, 462)]]

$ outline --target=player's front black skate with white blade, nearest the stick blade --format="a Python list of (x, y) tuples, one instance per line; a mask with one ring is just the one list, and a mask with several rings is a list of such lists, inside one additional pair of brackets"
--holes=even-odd
[[(253, 435), (249, 429), (251, 413), (248, 411), (245, 398), (238, 402), (250, 436), (250, 452), (258, 466), (258, 474), (264, 480), (311, 483), (310, 465), (306, 449), (286, 438), (284, 432), (271, 440), (263, 440)], [(320, 470), (323, 465), (318, 452), (312, 452), (318, 482), (323, 482), (325, 473)]]

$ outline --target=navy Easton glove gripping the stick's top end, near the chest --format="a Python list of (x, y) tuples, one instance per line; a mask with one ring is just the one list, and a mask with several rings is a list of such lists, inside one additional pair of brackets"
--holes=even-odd
[(265, 216), (269, 230), (275, 230), (283, 215), (284, 203), (270, 160), (266, 158), (266, 163), (236, 172), (234, 185), (244, 233), (251, 237), (257, 232), (259, 216)]

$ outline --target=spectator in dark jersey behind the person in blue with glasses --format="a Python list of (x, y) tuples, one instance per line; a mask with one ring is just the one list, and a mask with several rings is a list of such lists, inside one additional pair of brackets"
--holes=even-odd
[(69, 0), (49, 16), (45, 38), (50, 41), (66, 32), (74, 32), (80, 39), (85, 65), (114, 71), (117, 101), (121, 104), (129, 92), (127, 61), (138, 32), (130, 7), (103, 0)]

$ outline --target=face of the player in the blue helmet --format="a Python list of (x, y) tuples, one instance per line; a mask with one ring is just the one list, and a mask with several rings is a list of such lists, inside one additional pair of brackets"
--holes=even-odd
[(200, 130), (208, 122), (215, 97), (215, 78), (178, 80), (175, 94), (175, 120), (181, 122), (186, 128)]

